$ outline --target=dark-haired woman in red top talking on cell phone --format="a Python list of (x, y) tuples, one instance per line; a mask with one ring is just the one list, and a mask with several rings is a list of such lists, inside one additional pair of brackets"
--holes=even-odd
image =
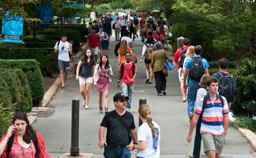
[(0, 139), (0, 158), (50, 157), (46, 151), (43, 136), (33, 130), (26, 114), (17, 112), (13, 116), (13, 123), (7, 133)]

